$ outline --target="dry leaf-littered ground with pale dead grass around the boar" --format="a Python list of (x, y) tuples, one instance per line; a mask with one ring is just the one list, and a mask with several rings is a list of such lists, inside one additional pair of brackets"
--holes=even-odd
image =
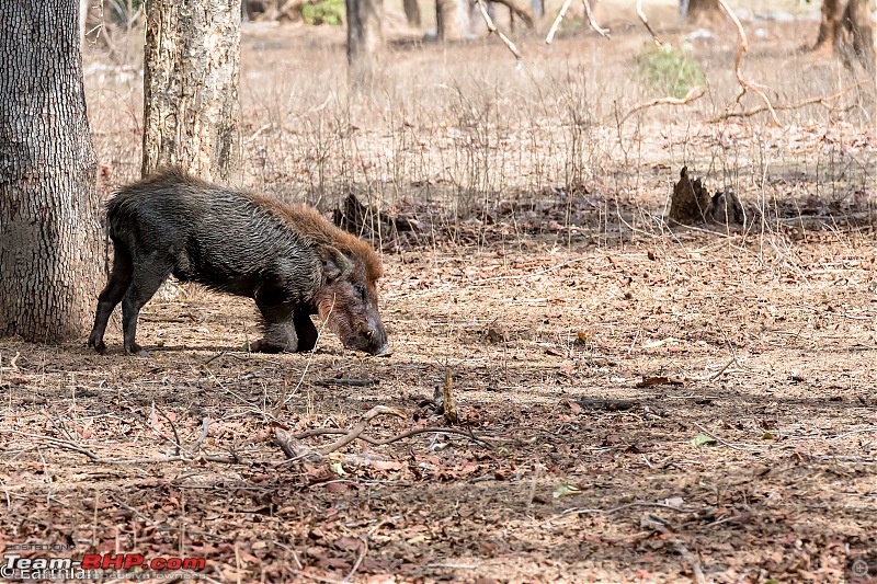
[[(750, 72), (778, 102), (861, 76), (794, 54), (812, 22), (759, 26)], [(736, 94), (729, 36), (698, 49), (707, 98), (622, 124), (654, 96), (631, 73), (643, 39), (524, 39), (523, 78), (492, 42), (414, 46), (357, 101), (338, 32), (250, 30), (242, 182), (435, 219), (385, 245), (392, 354), (331, 334), (312, 355), (248, 354), (251, 302), (190, 287), (145, 308), (151, 358), (121, 354), (116, 317), (106, 356), (2, 340), (0, 549), (205, 558), (200, 577), (224, 583), (877, 570), (873, 84), (782, 129), (708, 124)], [(87, 77), (107, 192), (138, 168), (132, 62)], [(670, 230), (682, 164), (755, 221)], [(454, 427), (434, 408), (448, 371)], [(433, 430), (284, 462), (276, 428), (345, 431), (376, 405), (399, 415), (372, 438)]]

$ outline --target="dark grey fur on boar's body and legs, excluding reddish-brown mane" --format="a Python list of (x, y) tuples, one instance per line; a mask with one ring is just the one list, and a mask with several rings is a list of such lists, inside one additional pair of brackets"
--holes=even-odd
[[(115, 254), (89, 336), (89, 346), (99, 353), (106, 350), (106, 323), (121, 300), (124, 351), (148, 355), (135, 341), (137, 317), (171, 274), (253, 298), (265, 334), (251, 344), (252, 351), (309, 351), (317, 342), (310, 314), (317, 313), (318, 293), (327, 285), (348, 285), (332, 282), (353, 273), (355, 259), (297, 231), (251, 195), (175, 170), (123, 187), (107, 203), (106, 215)], [(364, 288), (356, 282), (349, 286)], [(377, 300), (366, 296), (357, 295), (363, 306), (353, 309), (361, 310), (368, 324), (349, 327), (356, 334), (342, 341), (372, 354), (384, 353), (387, 337)]]

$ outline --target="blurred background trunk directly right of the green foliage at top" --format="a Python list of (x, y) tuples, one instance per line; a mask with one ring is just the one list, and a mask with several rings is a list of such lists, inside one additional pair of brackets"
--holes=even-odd
[(346, 0), (351, 84), (371, 83), (384, 53), (384, 0)]

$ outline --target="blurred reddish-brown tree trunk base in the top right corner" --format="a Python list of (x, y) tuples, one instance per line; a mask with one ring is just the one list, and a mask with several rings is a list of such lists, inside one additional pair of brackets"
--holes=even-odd
[(868, 0), (823, 0), (813, 50), (855, 57), (866, 69), (875, 69), (874, 25)]

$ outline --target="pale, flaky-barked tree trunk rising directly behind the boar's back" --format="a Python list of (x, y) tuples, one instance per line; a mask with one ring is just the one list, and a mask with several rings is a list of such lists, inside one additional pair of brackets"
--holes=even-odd
[(238, 165), (240, 0), (147, 0), (144, 160), (225, 181)]

